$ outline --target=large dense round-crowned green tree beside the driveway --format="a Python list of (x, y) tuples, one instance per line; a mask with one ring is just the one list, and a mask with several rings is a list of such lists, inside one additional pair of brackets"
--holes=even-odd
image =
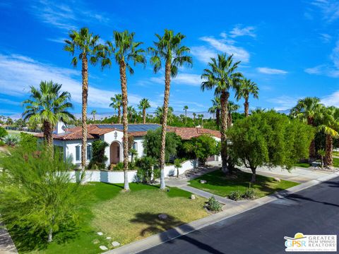
[(268, 111), (238, 120), (227, 131), (227, 137), (232, 143), (232, 154), (251, 169), (251, 181), (255, 182), (257, 167), (290, 169), (307, 156), (314, 128)]

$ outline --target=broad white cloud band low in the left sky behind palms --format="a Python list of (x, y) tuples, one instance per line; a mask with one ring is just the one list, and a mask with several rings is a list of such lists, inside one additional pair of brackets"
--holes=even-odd
[[(62, 90), (71, 93), (72, 102), (81, 103), (81, 71), (59, 68), (34, 61), (27, 56), (0, 54), (0, 89), (1, 94), (15, 97), (28, 96), (30, 85), (37, 86), (41, 80), (53, 80), (62, 84)], [(92, 83), (90, 83), (92, 84)], [(109, 108), (110, 97), (118, 91), (102, 90), (90, 85), (88, 106)], [(129, 94), (129, 102), (138, 104), (141, 97)]]

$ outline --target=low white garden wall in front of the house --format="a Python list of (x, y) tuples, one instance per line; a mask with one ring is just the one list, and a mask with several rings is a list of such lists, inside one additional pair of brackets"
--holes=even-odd
[[(196, 159), (182, 162), (179, 168), (179, 174), (183, 174), (186, 170), (194, 169), (198, 166)], [(71, 171), (71, 179), (73, 182), (79, 180), (80, 171)], [(129, 170), (129, 183), (138, 181), (136, 170)], [(165, 166), (165, 177), (177, 176), (177, 169), (174, 165)], [(85, 172), (85, 182), (102, 182), (102, 183), (124, 183), (124, 171), (100, 171), (88, 170)]]

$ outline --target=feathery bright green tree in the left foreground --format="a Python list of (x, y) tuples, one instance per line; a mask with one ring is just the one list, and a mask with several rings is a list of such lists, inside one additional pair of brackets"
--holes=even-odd
[(12, 236), (23, 239), (18, 241), (19, 249), (35, 248), (37, 241), (50, 243), (53, 236), (72, 231), (79, 222), (82, 186), (71, 183), (72, 165), (61, 156), (51, 160), (48, 150), (35, 142), (35, 146), (19, 145), (1, 158), (1, 220)]

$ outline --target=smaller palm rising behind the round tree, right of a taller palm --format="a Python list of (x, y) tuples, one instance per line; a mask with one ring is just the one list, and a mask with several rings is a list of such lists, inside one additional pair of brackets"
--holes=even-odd
[(244, 112), (245, 116), (249, 116), (249, 95), (253, 95), (254, 98), (258, 99), (259, 88), (252, 80), (244, 78), (239, 87), (237, 87), (237, 92), (235, 97), (237, 97), (237, 101), (239, 99), (244, 98)]

